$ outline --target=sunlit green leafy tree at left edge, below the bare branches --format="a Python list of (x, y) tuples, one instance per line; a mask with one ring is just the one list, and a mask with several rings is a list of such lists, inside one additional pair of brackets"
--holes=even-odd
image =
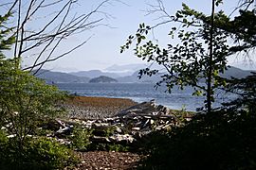
[(17, 158), (22, 160), (28, 134), (34, 133), (41, 120), (62, 113), (56, 105), (64, 93), (17, 67), (20, 58), (5, 58), (4, 51), (15, 42), (15, 36), (9, 37), (12, 28), (6, 26), (10, 16), (0, 17), (0, 127), (13, 137)]

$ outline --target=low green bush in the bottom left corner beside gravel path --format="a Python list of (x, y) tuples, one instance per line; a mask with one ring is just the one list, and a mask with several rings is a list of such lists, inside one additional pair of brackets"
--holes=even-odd
[(3, 151), (1, 169), (63, 169), (78, 163), (71, 150), (46, 138), (27, 139), (22, 155), (13, 139), (9, 139)]

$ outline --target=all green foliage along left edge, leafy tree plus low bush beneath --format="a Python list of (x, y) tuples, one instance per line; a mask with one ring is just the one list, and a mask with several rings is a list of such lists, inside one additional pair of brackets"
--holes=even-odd
[[(10, 13), (0, 17), (0, 127), (5, 127), (8, 140), (1, 135), (1, 166), (10, 169), (59, 168), (66, 165), (69, 156), (66, 148), (56, 142), (29, 139), (46, 117), (54, 117), (63, 110), (56, 107), (64, 99), (57, 87), (31, 76), (20, 68), (21, 58), (6, 59), (15, 38), (9, 37)], [(68, 158), (67, 158), (68, 157)], [(9, 169), (8, 168), (8, 169)]]

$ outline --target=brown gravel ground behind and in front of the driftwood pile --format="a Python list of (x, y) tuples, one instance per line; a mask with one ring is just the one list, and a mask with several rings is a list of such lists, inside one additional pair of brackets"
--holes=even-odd
[[(101, 119), (111, 117), (137, 103), (125, 98), (75, 96), (67, 100), (63, 107), (72, 118)], [(137, 169), (143, 156), (131, 152), (90, 151), (77, 152), (82, 163), (76, 170), (116, 170)]]

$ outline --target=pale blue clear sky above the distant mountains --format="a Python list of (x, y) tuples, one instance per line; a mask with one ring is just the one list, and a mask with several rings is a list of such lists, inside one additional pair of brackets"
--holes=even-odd
[[(79, 4), (73, 10), (78, 13), (88, 13), (101, 2), (102, 0), (79, 0)], [(174, 14), (177, 9), (180, 9), (182, 3), (187, 4), (190, 8), (210, 13), (210, 0), (163, 0), (163, 3), (170, 14)], [(219, 9), (230, 13), (236, 7), (236, 3), (237, 1), (225, 0), (225, 5)], [(60, 53), (91, 37), (82, 47), (62, 59), (46, 64), (45, 68), (70, 72), (104, 70), (113, 64), (146, 63), (134, 55), (132, 48), (122, 54), (119, 53), (119, 50), (128, 36), (136, 33), (139, 24), (145, 23), (154, 26), (159, 22), (157, 13), (146, 15), (146, 10), (150, 9), (149, 4), (155, 5), (156, 0), (121, 0), (121, 2), (112, 0), (111, 4), (105, 4), (101, 11), (111, 17), (104, 18), (105, 15), (99, 14), (96, 18), (103, 17), (102, 24), (108, 26), (98, 26), (68, 38), (63, 45), (59, 46)], [(36, 28), (36, 25), (33, 26)], [(160, 44), (168, 43), (167, 35), (170, 27), (170, 25), (166, 25), (155, 30), (155, 38)], [(236, 61), (233, 59), (231, 62)], [(25, 64), (28, 63), (29, 59), (25, 61)]]

